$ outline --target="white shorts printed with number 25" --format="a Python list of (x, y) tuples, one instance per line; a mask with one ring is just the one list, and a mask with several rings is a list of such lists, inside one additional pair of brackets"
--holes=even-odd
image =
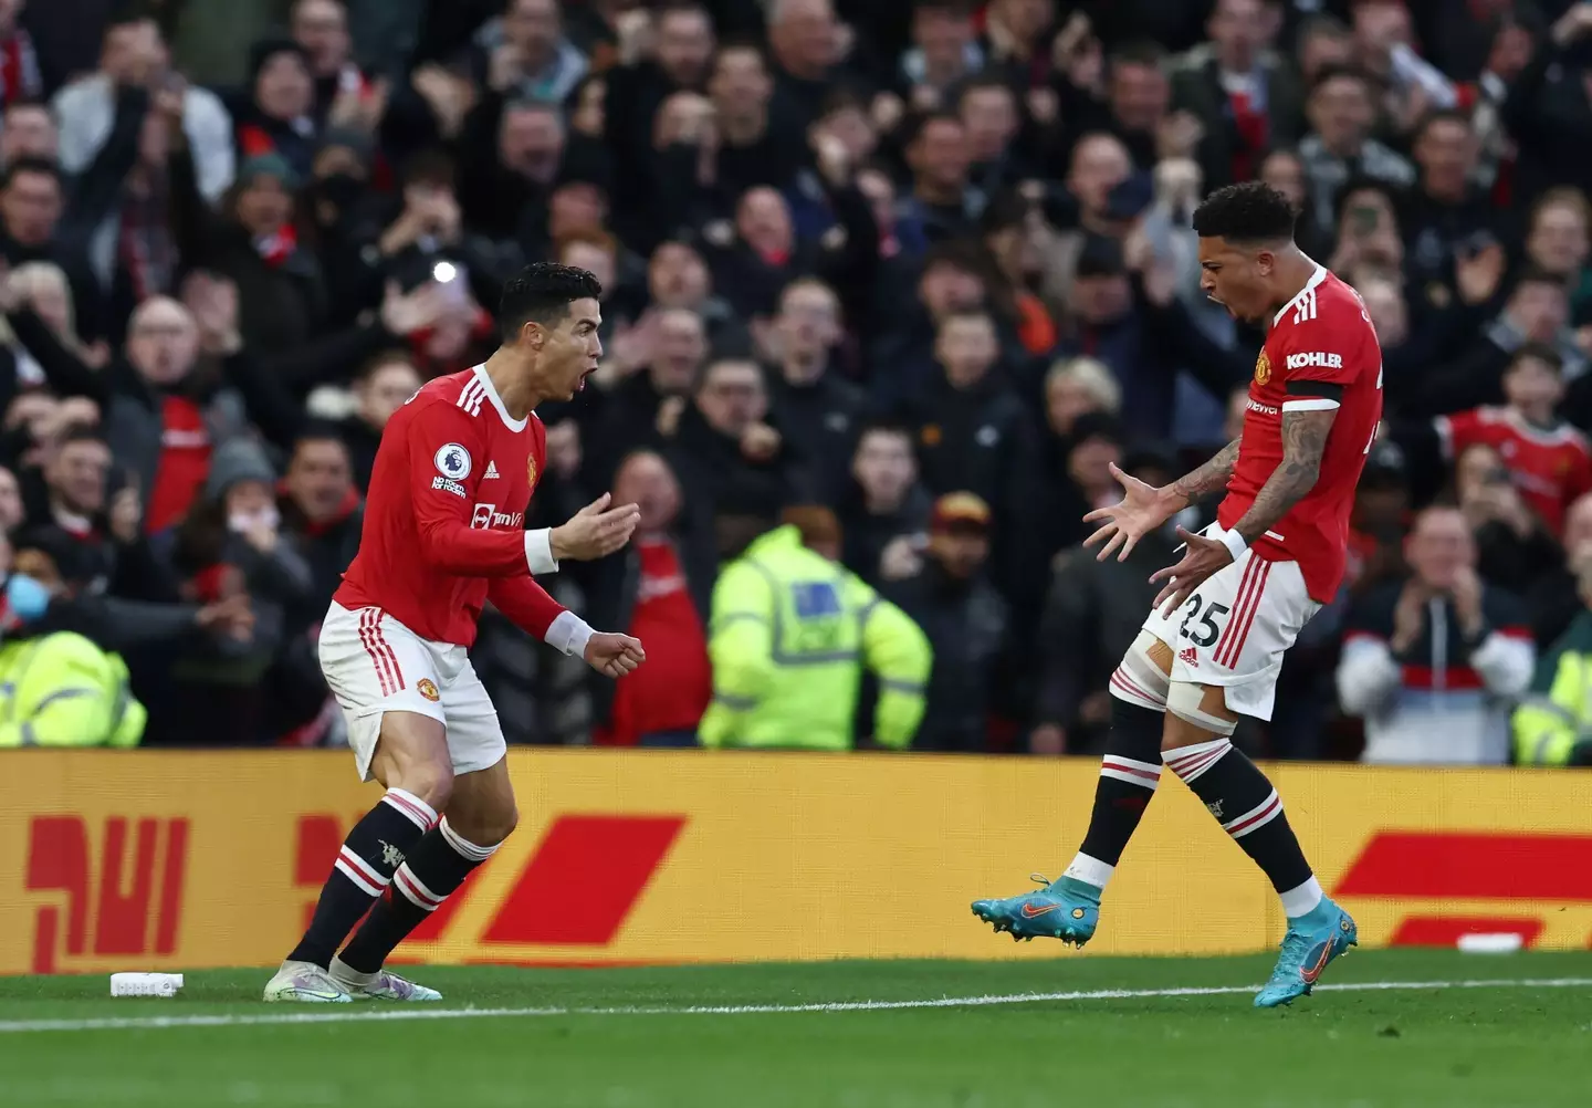
[[(1205, 533), (1224, 532), (1212, 524)], [(1143, 629), (1172, 646), (1172, 681), (1219, 686), (1231, 712), (1270, 720), (1283, 654), (1320, 610), (1297, 562), (1247, 549), (1169, 614), (1151, 611)]]

